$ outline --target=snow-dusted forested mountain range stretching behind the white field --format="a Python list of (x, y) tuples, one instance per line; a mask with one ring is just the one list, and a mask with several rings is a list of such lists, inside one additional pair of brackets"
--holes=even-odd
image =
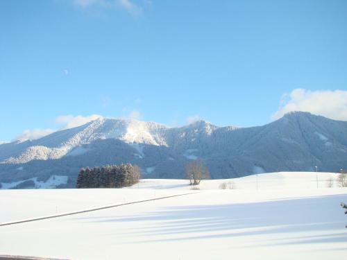
[(337, 172), (347, 168), (347, 122), (307, 112), (252, 128), (97, 119), (41, 139), (0, 144), (0, 183), (74, 187), (80, 168), (123, 162), (137, 164), (144, 177), (183, 178), (192, 159), (203, 159), (214, 179), (315, 166)]

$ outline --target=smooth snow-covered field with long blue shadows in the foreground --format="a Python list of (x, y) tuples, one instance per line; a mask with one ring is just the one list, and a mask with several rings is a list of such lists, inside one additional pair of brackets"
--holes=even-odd
[[(327, 184), (332, 177), (334, 187)], [(0, 190), (0, 254), (58, 259), (344, 259), (347, 217), (335, 173), (141, 180), (130, 189)], [(226, 183), (225, 185), (223, 183)], [(317, 183), (319, 188), (317, 189)], [(226, 189), (220, 189), (221, 187)], [(228, 189), (229, 187), (235, 189)]]

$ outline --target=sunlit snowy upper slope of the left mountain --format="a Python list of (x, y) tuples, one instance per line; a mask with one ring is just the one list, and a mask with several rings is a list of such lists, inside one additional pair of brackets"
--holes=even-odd
[[(18, 155), (11, 155), (0, 163), (23, 164), (35, 159), (60, 159), (65, 155), (82, 155), (88, 150), (79, 146), (90, 144), (97, 139), (119, 139), (128, 144), (135, 144), (135, 146), (136, 144), (167, 146), (162, 137), (164, 129), (167, 128), (159, 123), (142, 122), (135, 119), (100, 118), (85, 125), (54, 132), (37, 139), (33, 141), (33, 144), (37, 145), (29, 146)], [(139, 154), (139, 157), (143, 157), (143, 155)]]

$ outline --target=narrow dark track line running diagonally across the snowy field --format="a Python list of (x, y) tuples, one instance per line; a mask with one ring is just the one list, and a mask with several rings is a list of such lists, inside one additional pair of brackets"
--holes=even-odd
[(91, 211), (98, 211), (98, 210), (102, 210), (102, 209), (110, 209), (112, 207), (120, 207), (120, 206), (125, 206), (125, 205), (132, 205), (132, 204), (137, 204), (137, 203), (142, 203), (142, 202), (147, 202), (147, 201), (153, 201), (153, 200), (164, 200), (165, 198), (174, 198), (174, 197), (186, 196), (186, 195), (190, 195), (190, 194), (196, 194), (196, 192), (176, 194), (176, 195), (164, 196), (164, 197), (159, 197), (159, 198), (150, 198), (150, 199), (147, 199), (147, 200), (137, 200), (137, 201), (126, 202), (126, 203), (121, 203), (121, 204), (116, 204), (116, 205), (109, 205), (109, 206), (104, 206), (104, 207), (96, 207), (96, 208), (93, 208), (93, 209), (85, 209), (85, 210), (81, 210), (81, 211), (73, 211), (73, 212), (69, 212), (69, 213), (56, 214), (56, 215), (51, 215), (51, 216), (44, 216), (44, 217), (40, 217), (40, 218), (29, 218), (29, 219), (26, 219), (26, 220), (18, 220), (18, 221), (13, 221), (13, 222), (0, 223), (0, 227), (7, 226), (7, 225), (15, 225), (15, 224), (20, 224), (20, 223), (26, 223), (26, 222), (32, 222), (32, 221), (37, 221), (37, 220), (44, 220), (44, 219), (49, 219), (49, 218), (60, 218), (62, 216), (70, 216), (70, 215), (82, 214), (82, 213), (91, 212)]

